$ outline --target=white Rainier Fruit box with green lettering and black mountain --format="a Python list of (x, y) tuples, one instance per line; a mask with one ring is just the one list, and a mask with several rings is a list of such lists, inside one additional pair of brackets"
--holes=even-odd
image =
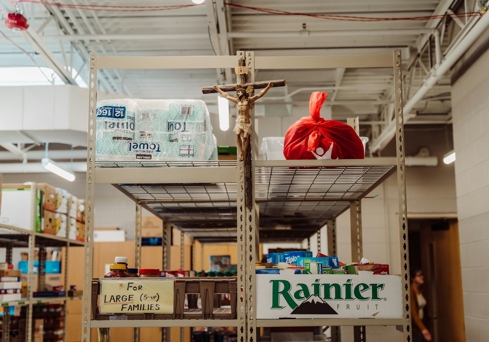
[(257, 274), (257, 319), (402, 318), (400, 275)]

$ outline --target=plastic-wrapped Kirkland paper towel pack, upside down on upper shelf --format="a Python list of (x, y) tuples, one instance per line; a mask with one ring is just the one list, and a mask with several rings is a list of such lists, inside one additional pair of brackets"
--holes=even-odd
[(201, 100), (97, 102), (96, 160), (216, 160)]

